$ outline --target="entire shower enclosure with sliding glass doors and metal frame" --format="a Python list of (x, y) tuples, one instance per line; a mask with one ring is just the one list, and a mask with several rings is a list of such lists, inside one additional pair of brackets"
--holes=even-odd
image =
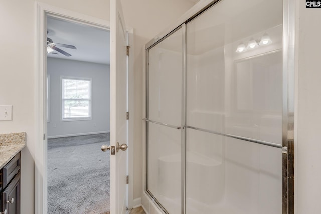
[(164, 213), (291, 213), (283, 4), (212, 2), (147, 44), (145, 191)]

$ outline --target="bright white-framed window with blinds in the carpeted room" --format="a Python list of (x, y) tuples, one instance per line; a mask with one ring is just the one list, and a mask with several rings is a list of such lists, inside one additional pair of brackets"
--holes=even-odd
[(62, 77), (62, 121), (91, 119), (91, 79)]

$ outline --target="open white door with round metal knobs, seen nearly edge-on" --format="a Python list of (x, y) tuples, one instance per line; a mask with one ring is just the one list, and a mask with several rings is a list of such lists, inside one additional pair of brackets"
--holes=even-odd
[[(110, 213), (126, 213), (127, 150), (117, 152), (117, 142), (127, 144), (127, 32), (121, 3), (110, 1)], [(115, 154), (113, 155), (113, 147)], [(129, 148), (132, 149), (132, 148)]]

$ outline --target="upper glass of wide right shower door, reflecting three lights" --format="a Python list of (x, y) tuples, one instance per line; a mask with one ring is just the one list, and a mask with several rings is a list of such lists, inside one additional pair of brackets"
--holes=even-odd
[(282, 4), (224, 0), (187, 24), (188, 126), (281, 144)]

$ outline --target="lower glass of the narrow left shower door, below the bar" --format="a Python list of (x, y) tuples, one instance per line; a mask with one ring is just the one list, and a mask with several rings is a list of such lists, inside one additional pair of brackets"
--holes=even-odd
[(181, 213), (181, 130), (148, 124), (148, 190), (169, 213)]

